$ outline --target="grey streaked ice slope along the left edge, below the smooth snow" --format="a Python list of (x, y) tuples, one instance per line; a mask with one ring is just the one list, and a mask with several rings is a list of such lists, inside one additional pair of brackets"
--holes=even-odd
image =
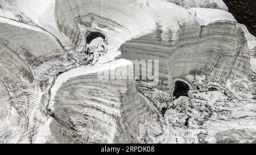
[[(1, 118), (1, 141), (30, 143), (42, 115), (38, 111), (43, 91), (40, 89), (51, 82), (42, 76), (59, 72), (43, 70), (49, 71), (57, 61), (64, 61), (64, 51), (54, 37), (38, 27), (6, 18), (0, 19), (0, 25), (1, 85), (9, 98), (1, 103), (7, 114)], [(48, 65), (42, 65), (46, 61)]]

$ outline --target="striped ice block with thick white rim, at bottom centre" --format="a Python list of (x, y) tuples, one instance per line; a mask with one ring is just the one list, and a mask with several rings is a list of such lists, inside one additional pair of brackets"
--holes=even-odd
[[(132, 65), (117, 60), (60, 74), (48, 104), (53, 119), (36, 143), (143, 143), (145, 137), (148, 143), (163, 141), (166, 127), (152, 103), (137, 93), (134, 79), (122, 79), (133, 75)], [(115, 80), (97, 78), (113, 70), (123, 74), (116, 74)]]

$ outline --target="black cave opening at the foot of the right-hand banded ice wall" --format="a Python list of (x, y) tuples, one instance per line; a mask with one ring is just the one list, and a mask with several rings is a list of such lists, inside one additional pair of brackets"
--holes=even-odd
[(189, 86), (183, 81), (176, 81), (172, 96), (177, 99), (181, 96), (188, 97)]

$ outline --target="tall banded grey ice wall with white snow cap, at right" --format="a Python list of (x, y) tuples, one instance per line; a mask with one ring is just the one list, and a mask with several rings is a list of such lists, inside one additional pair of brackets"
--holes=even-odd
[[(176, 32), (159, 26), (154, 33), (122, 44), (122, 57), (160, 59), (163, 90), (172, 90), (175, 78), (188, 74), (205, 74), (208, 81), (224, 85), (228, 79), (250, 82), (247, 42), (233, 16), (221, 10), (189, 11), (195, 16), (179, 22)], [(172, 38), (175, 33), (177, 39)]]

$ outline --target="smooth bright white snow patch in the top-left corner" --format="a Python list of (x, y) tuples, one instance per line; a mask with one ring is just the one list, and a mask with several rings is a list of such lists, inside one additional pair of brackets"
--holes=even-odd
[(2, 6), (0, 16), (43, 28), (44, 31), (56, 36), (56, 39), (60, 40), (63, 46), (69, 47), (71, 45), (67, 36), (60, 33), (57, 28), (54, 15), (54, 0), (3, 0), (0, 5)]

